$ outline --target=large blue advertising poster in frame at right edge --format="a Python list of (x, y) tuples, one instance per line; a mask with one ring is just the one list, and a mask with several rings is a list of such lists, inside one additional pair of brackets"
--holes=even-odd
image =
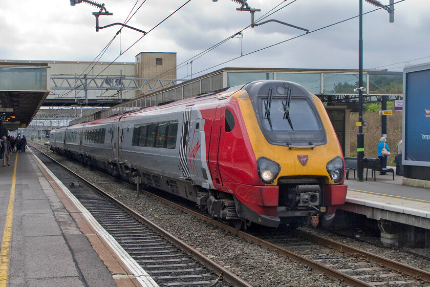
[(430, 167), (430, 64), (403, 70), (403, 164)]

